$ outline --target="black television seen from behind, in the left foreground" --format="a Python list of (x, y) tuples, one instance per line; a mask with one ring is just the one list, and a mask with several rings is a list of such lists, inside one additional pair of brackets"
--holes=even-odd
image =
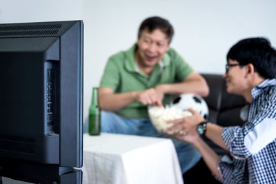
[(83, 21), (0, 24), (0, 86), (0, 181), (79, 183)]

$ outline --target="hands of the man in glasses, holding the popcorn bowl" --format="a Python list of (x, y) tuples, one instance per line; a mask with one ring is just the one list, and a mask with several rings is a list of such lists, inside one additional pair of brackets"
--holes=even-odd
[(195, 143), (198, 140), (199, 134), (197, 133), (197, 125), (204, 121), (204, 118), (195, 110), (189, 110), (192, 112), (192, 116), (184, 117), (183, 119), (176, 119), (168, 121), (173, 123), (172, 127), (169, 127), (167, 131), (180, 130), (173, 134), (171, 137), (178, 139), (179, 141), (186, 141), (188, 143)]

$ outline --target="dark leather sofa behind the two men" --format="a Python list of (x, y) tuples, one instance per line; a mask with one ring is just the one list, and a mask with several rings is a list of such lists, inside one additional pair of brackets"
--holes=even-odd
[[(210, 88), (209, 95), (204, 98), (209, 108), (208, 121), (217, 125), (233, 126), (242, 125), (243, 121), (239, 117), (241, 108), (246, 105), (242, 96), (228, 94), (226, 92), (225, 81), (221, 74), (201, 74), (206, 79)], [(205, 141), (217, 154), (227, 154), (225, 150), (215, 145), (205, 138)], [(201, 159), (197, 165), (184, 174), (185, 184), (219, 183), (213, 178), (204, 161)]]

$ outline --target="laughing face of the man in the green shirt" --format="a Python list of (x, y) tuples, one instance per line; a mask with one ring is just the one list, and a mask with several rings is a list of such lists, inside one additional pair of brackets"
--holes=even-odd
[(137, 45), (137, 57), (142, 67), (154, 67), (170, 48), (166, 34), (159, 29), (152, 32), (143, 30)]

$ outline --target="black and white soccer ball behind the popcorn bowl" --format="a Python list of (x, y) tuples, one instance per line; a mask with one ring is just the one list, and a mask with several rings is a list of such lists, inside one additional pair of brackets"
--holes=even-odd
[(208, 105), (201, 96), (193, 93), (184, 93), (177, 96), (170, 103), (170, 107), (179, 108), (181, 110), (193, 109), (197, 110), (204, 119), (208, 119)]

